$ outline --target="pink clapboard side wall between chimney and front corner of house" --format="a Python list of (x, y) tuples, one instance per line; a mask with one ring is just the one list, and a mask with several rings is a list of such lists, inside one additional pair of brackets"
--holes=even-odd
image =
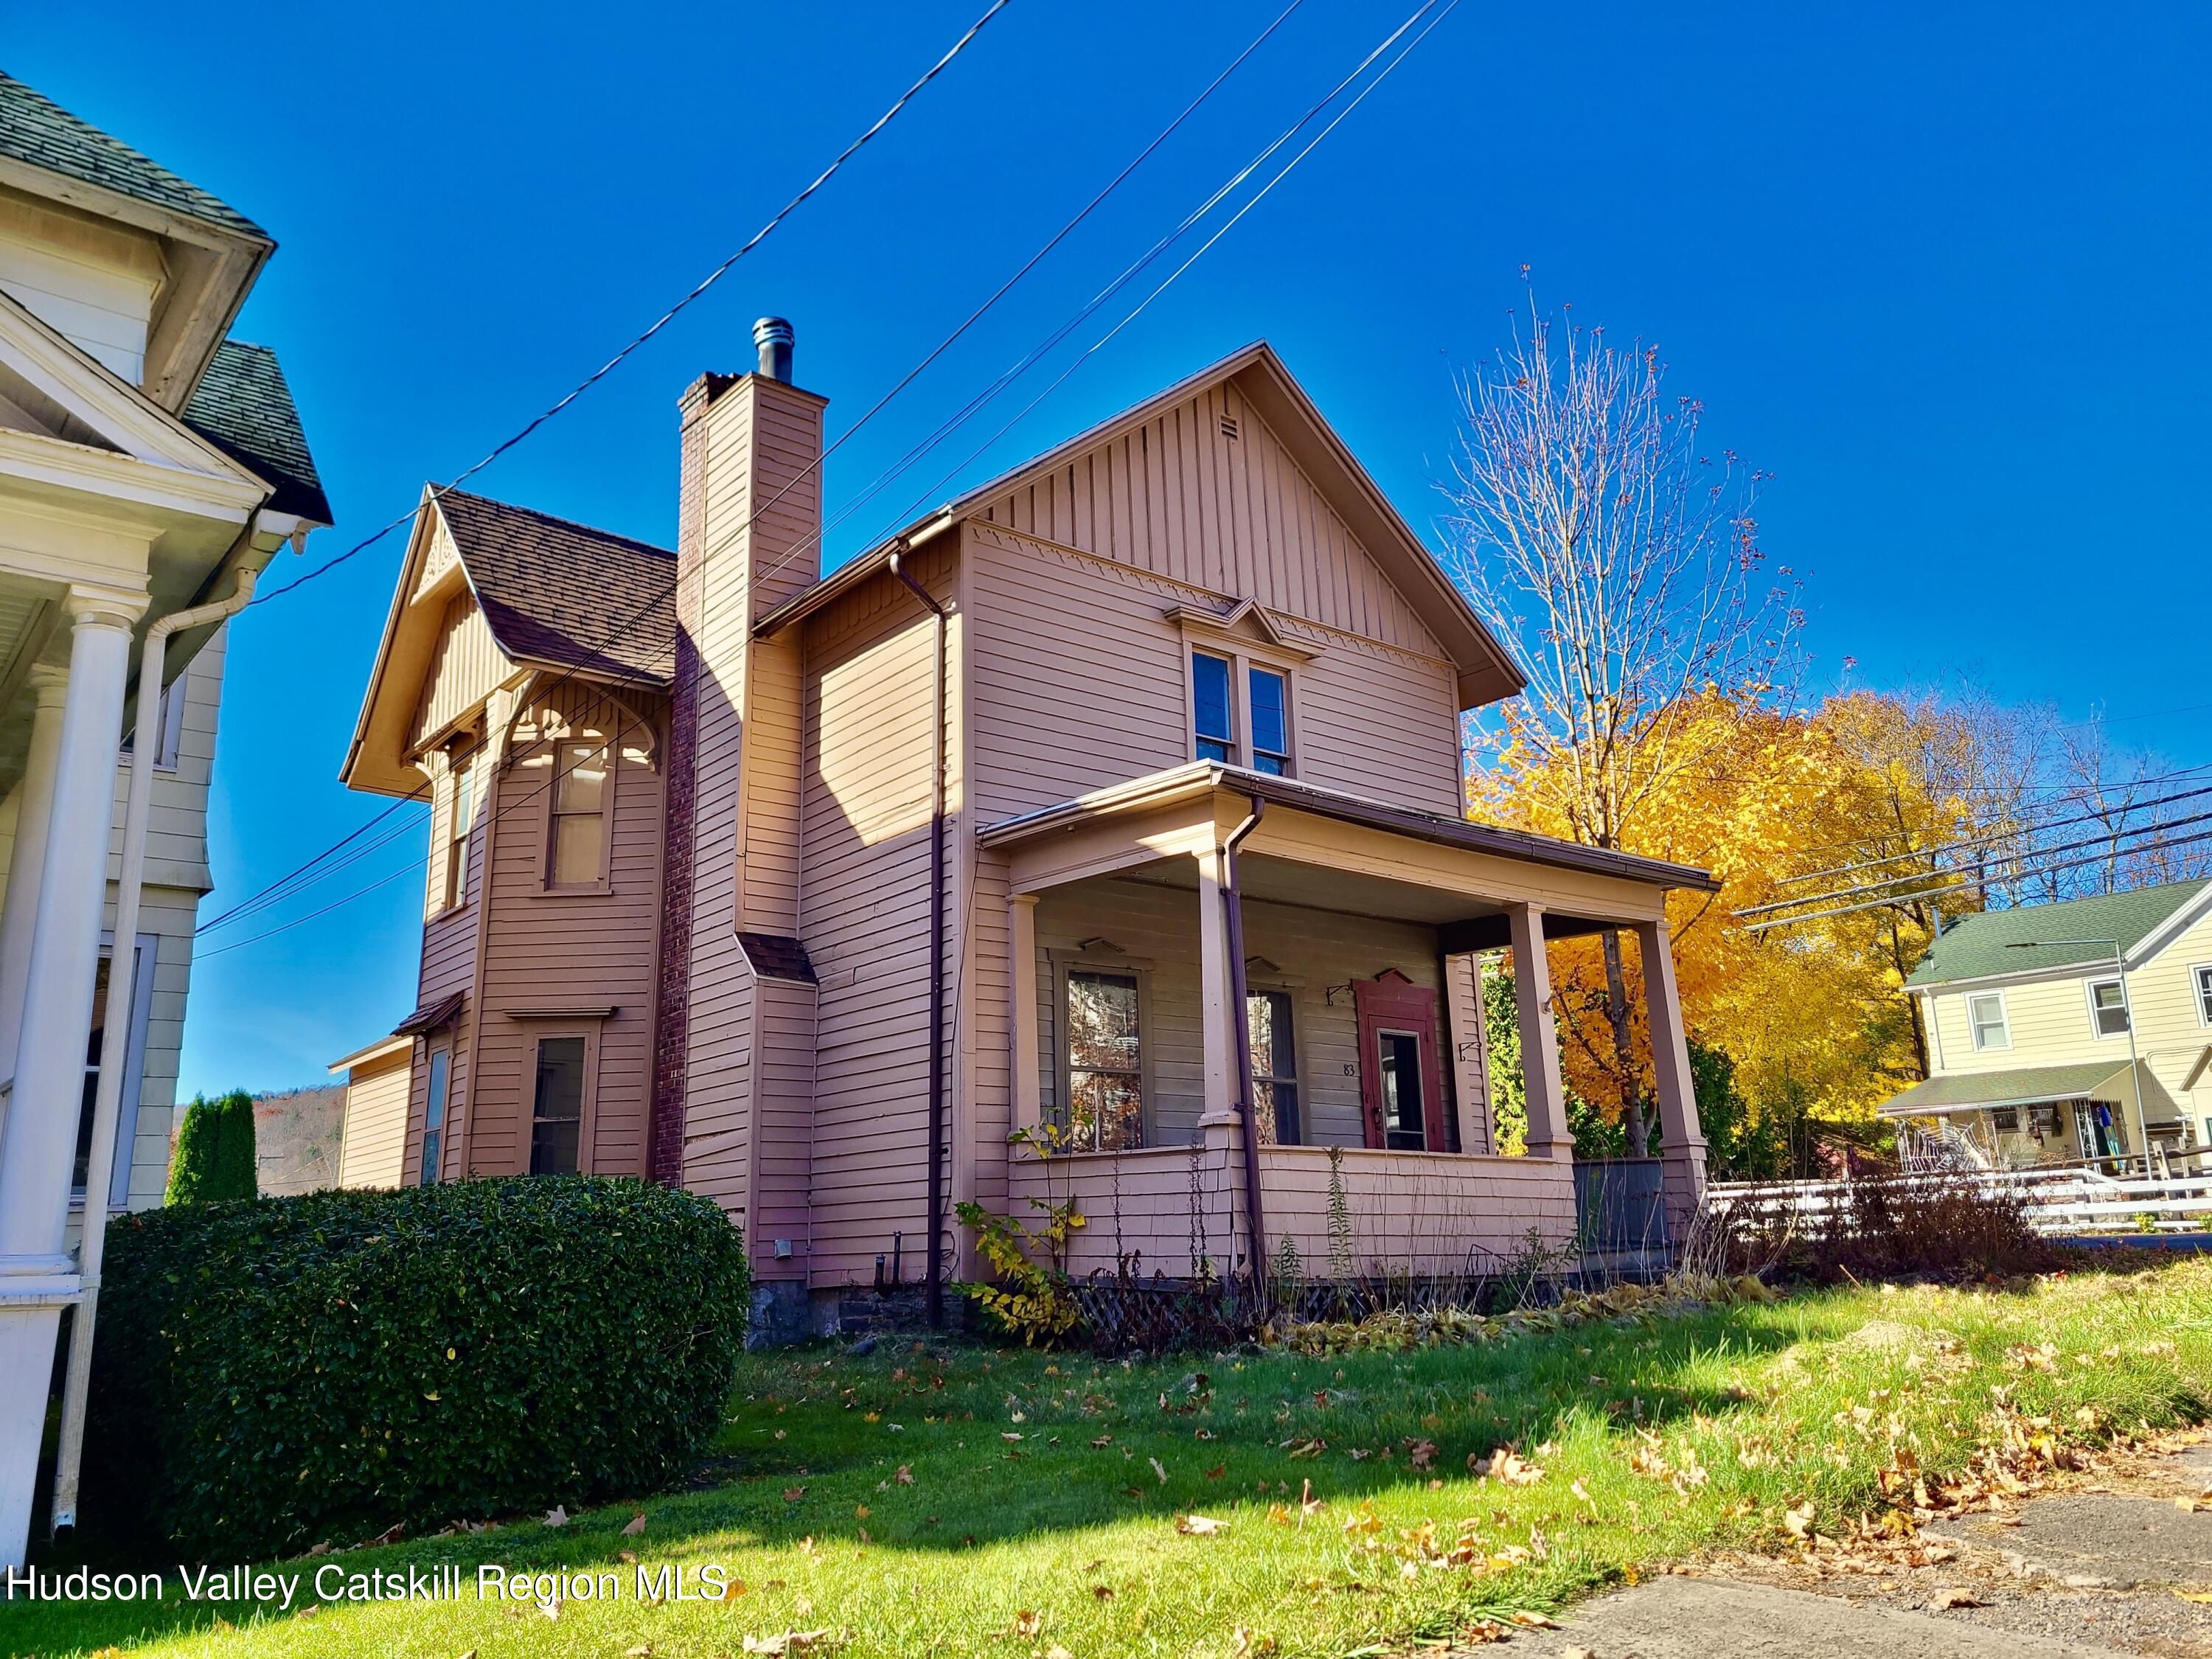
[[(953, 599), (956, 566), (942, 551), (922, 549), (909, 573), (940, 604)], [(953, 661), (964, 622), (949, 624)], [(872, 1281), (894, 1232), (905, 1234), (916, 1272), (925, 1261), (936, 635), (922, 604), (891, 577), (865, 582), (805, 628), (799, 936), (821, 980), (812, 1281), (847, 1285)], [(958, 730), (949, 723), (949, 750)], [(951, 816), (949, 883), (962, 836)], [(947, 960), (958, 962), (960, 949), (949, 905)]]

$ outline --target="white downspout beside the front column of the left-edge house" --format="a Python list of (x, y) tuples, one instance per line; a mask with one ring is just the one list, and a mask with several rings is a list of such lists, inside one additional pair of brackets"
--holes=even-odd
[(53, 1526), (77, 1524), (77, 1471), (84, 1464), (84, 1396), (93, 1380), (93, 1316), (100, 1310), (100, 1256), (108, 1239), (108, 1188), (115, 1181), (115, 1128), (122, 1119), (131, 1053), (131, 1009), (137, 1002), (137, 914), (146, 878), (146, 827), (153, 818), (153, 765), (161, 752), (161, 675), (168, 637), (234, 617), (254, 597), (259, 571), (239, 568), (228, 599), (157, 617), (139, 657), (137, 734), (131, 741), (131, 805), (124, 807), (124, 858), (115, 883), (115, 949), (108, 956), (108, 1037), (93, 1093), (93, 1152), (84, 1168), (82, 1283), (69, 1334), (69, 1378), (62, 1385), (62, 1444), (53, 1467)]

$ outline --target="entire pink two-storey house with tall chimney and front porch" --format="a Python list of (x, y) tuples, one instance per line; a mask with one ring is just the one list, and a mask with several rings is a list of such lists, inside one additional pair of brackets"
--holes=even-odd
[(754, 334), (681, 398), (672, 553), (425, 493), (345, 761), (434, 801), (400, 1179), (681, 1181), (774, 1332), (973, 1272), (960, 1201), (1172, 1274), (1325, 1263), (1334, 1181), (1444, 1270), (1571, 1232), (1546, 940), (1621, 927), (1694, 1203), (1666, 896), (1712, 880), (1464, 818), (1522, 679), (1270, 347), (825, 577), (823, 398)]

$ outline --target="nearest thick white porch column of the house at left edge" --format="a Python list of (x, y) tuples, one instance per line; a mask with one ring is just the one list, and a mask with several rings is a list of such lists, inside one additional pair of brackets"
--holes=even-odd
[[(20, 1566), (46, 1418), (58, 1298), (77, 1279), (64, 1239), (69, 1172), (93, 1029), (100, 916), (115, 812), (115, 745), (124, 723), (131, 626), (144, 599), (71, 588), (69, 697), (62, 708), (53, 812), (38, 883), (15, 1091), (0, 1139), (0, 1566)], [(115, 1044), (111, 1064), (122, 1062)], [(95, 1172), (93, 1192), (106, 1192)]]

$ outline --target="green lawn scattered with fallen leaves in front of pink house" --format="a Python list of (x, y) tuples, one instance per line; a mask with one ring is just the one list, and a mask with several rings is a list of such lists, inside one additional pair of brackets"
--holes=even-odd
[[(1818, 1528), (1840, 1526), (1885, 1506), (1878, 1471), (1898, 1447), (1933, 1482), (2006, 1438), (2066, 1447), (2208, 1413), (2203, 1259), (1407, 1354), (801, 1349), (745, 1363), (719, 1484), (644, 1500), (641, 1535), (622, 1535), (624, 1504), (557, 1531), (290, 1564), (456, 1564), (467, 1586), (305, 1617), (179, 1601), (170, 1568), (155, 1610), (0, 1606), (0, 1652), (675, 1659), (832, 1630), (854, 1655), (1345, 1655), (1553, 1608), (1717, 1542), (1781, 1540), (1803, 1500)], [(1542, 1478), (1469, 1473), (1502, 1444)], [(1221, 1526), (1179, 1531), (1188, 1515)], [(487, 1562), (615, 1571), (622, 1597), (568, 1597), (557, 1619), (478, 1601)], [(686, 1566), (695, 1586), (721, 1566), (743, 1593), (650, 1604), (639, 1566)]]

